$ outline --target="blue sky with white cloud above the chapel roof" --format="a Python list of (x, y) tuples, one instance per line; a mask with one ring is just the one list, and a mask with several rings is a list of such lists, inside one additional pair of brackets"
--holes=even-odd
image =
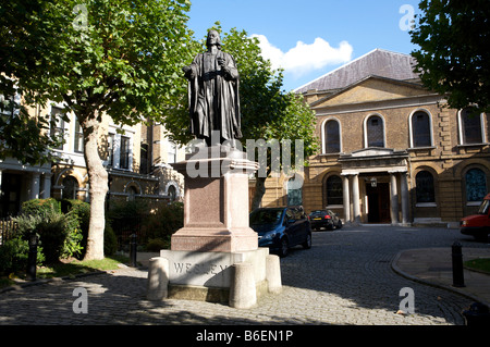
[[(418, 0), (192, 0), (188, 27), (200, 39), (219, 21), (257, 35), (262, 54), (292, 90), (381, 48), (409, 54), (405, 29)], [(224, 48), (225, 50), (225, 48)]]

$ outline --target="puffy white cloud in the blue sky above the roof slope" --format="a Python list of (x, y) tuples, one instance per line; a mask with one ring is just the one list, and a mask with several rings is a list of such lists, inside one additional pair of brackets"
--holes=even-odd
[(318, 37), (310, 45), (297, 41), (296, 47), (283, 52), (270, 44), (264, 35), (254, 34), (252, 37), (259, 39), (262, 57), (271, 61), (273, 69), (282, 67), (296, 77), (327, 65), (346, 63), (351, 61), (353, 53), (353, 47), (347, 41), (342, 41), (339, 48), (333, 48), (329, 42)]

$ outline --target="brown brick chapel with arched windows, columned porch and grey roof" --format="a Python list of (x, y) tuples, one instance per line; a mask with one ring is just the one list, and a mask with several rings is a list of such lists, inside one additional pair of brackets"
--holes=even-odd
[[(422, 87), (411, 55), (376, 49), (296, 89), (317, 114), (321, 152), (299, 202), (346, 222), (454, 224), (490, 184), (490, 120)], [(264, 206), (286, 205), (269, 178)], [(296, 199), (297, 202), (297, 199)]]

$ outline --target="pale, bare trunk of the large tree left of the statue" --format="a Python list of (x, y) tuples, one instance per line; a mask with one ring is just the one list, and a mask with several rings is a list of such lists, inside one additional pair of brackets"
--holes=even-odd
[(105, 201), (108, 191), (108, 174), (99, 157), (99, 122), (95, 116), (87, 116), (84, 122), (81, 122), (81, 126), (84, 133), (84, 154), (90, 185), (90, 222), (84, 260), (103, 259)]

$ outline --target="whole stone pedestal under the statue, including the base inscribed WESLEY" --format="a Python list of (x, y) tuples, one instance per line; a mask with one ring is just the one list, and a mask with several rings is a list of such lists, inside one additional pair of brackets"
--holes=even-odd
[(258, 247), (248, 224), (248, 176), (258, 164), (242, 151), (212, 146), (198, 148), (173, 168), (185, 179), (184, 226), (172, 235), (171, 249), (160, 252), (168, 261), (168, 298), (246, 309), (260, 295), (279, 293), (279, 258), (270, 267), (270, 257), (277, 256)]

